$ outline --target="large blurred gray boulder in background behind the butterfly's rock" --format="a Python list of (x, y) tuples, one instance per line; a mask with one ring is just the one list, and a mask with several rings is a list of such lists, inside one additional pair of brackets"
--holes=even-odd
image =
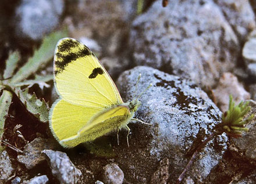
[[(130, 45), (137, 65), (190, 78), (213, 86), (236, 64), (240, 46), (236, 34), (212, 1), (154, 2), (133, 21)], [(184, 13), (186, 12), (186, 13)]]

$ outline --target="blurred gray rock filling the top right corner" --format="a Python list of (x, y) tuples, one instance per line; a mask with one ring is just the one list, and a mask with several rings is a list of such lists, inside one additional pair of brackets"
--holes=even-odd
[(222, 9), (227, 21), (243, 42), (255, 27), (255, 16), (248, 0), (214, 0)]

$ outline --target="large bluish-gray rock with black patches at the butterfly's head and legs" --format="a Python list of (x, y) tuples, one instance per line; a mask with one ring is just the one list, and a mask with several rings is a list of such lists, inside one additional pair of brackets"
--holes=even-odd
[[(129, 148), (124, 136), (120, 139), (121, 144), (114, 147), (118, 153), (115, 161), (125, 172), (127, 182), (149, 183), (159, 161), (168, 158), (169, 183), (174, 183), (190, 158), (186, 156), (187, 152), (191, 146), (198, 146), (205, 135), (211, 134), (215, 124), (221, 121), (221, 111), (191, 82), (145, 66), (120, 75), (118, 87), (125, 102), (134, 96), (140, 73), (138, 91), (143, 91), (149, 83), (152, 87), (141, 96), (136, 118), (152, 124), (152, 127), (139, 122), (129, 124)], [(187, 174), (195, 183), (204, 181), (219, 163), (226, 150), (226, 141), (225, 135), (217, 136), (201, 150)]]

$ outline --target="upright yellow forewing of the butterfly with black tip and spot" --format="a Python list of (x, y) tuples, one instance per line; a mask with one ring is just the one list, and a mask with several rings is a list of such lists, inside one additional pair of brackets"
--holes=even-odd
[(55, 86), (67, 102), (98, 109), (123, 103), (105, 68), (90, 49), (75, 39), (58, 42), (54, 71)]

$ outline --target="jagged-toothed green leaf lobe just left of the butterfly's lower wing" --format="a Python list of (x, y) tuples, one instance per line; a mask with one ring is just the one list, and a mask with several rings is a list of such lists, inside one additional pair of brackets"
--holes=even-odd
[(26, 88), (22, 91), (20, 88), (15, 89), (16, 95), (25, 104), (27, 110), (37, 117), (42, 122), (48, 121), (48, 110), (49, 106), (48, 103), (45, 102), (44, 99), (40, 100), (37, 99), (35, 93), (33, 95), (29, 94), (29, 88)]

